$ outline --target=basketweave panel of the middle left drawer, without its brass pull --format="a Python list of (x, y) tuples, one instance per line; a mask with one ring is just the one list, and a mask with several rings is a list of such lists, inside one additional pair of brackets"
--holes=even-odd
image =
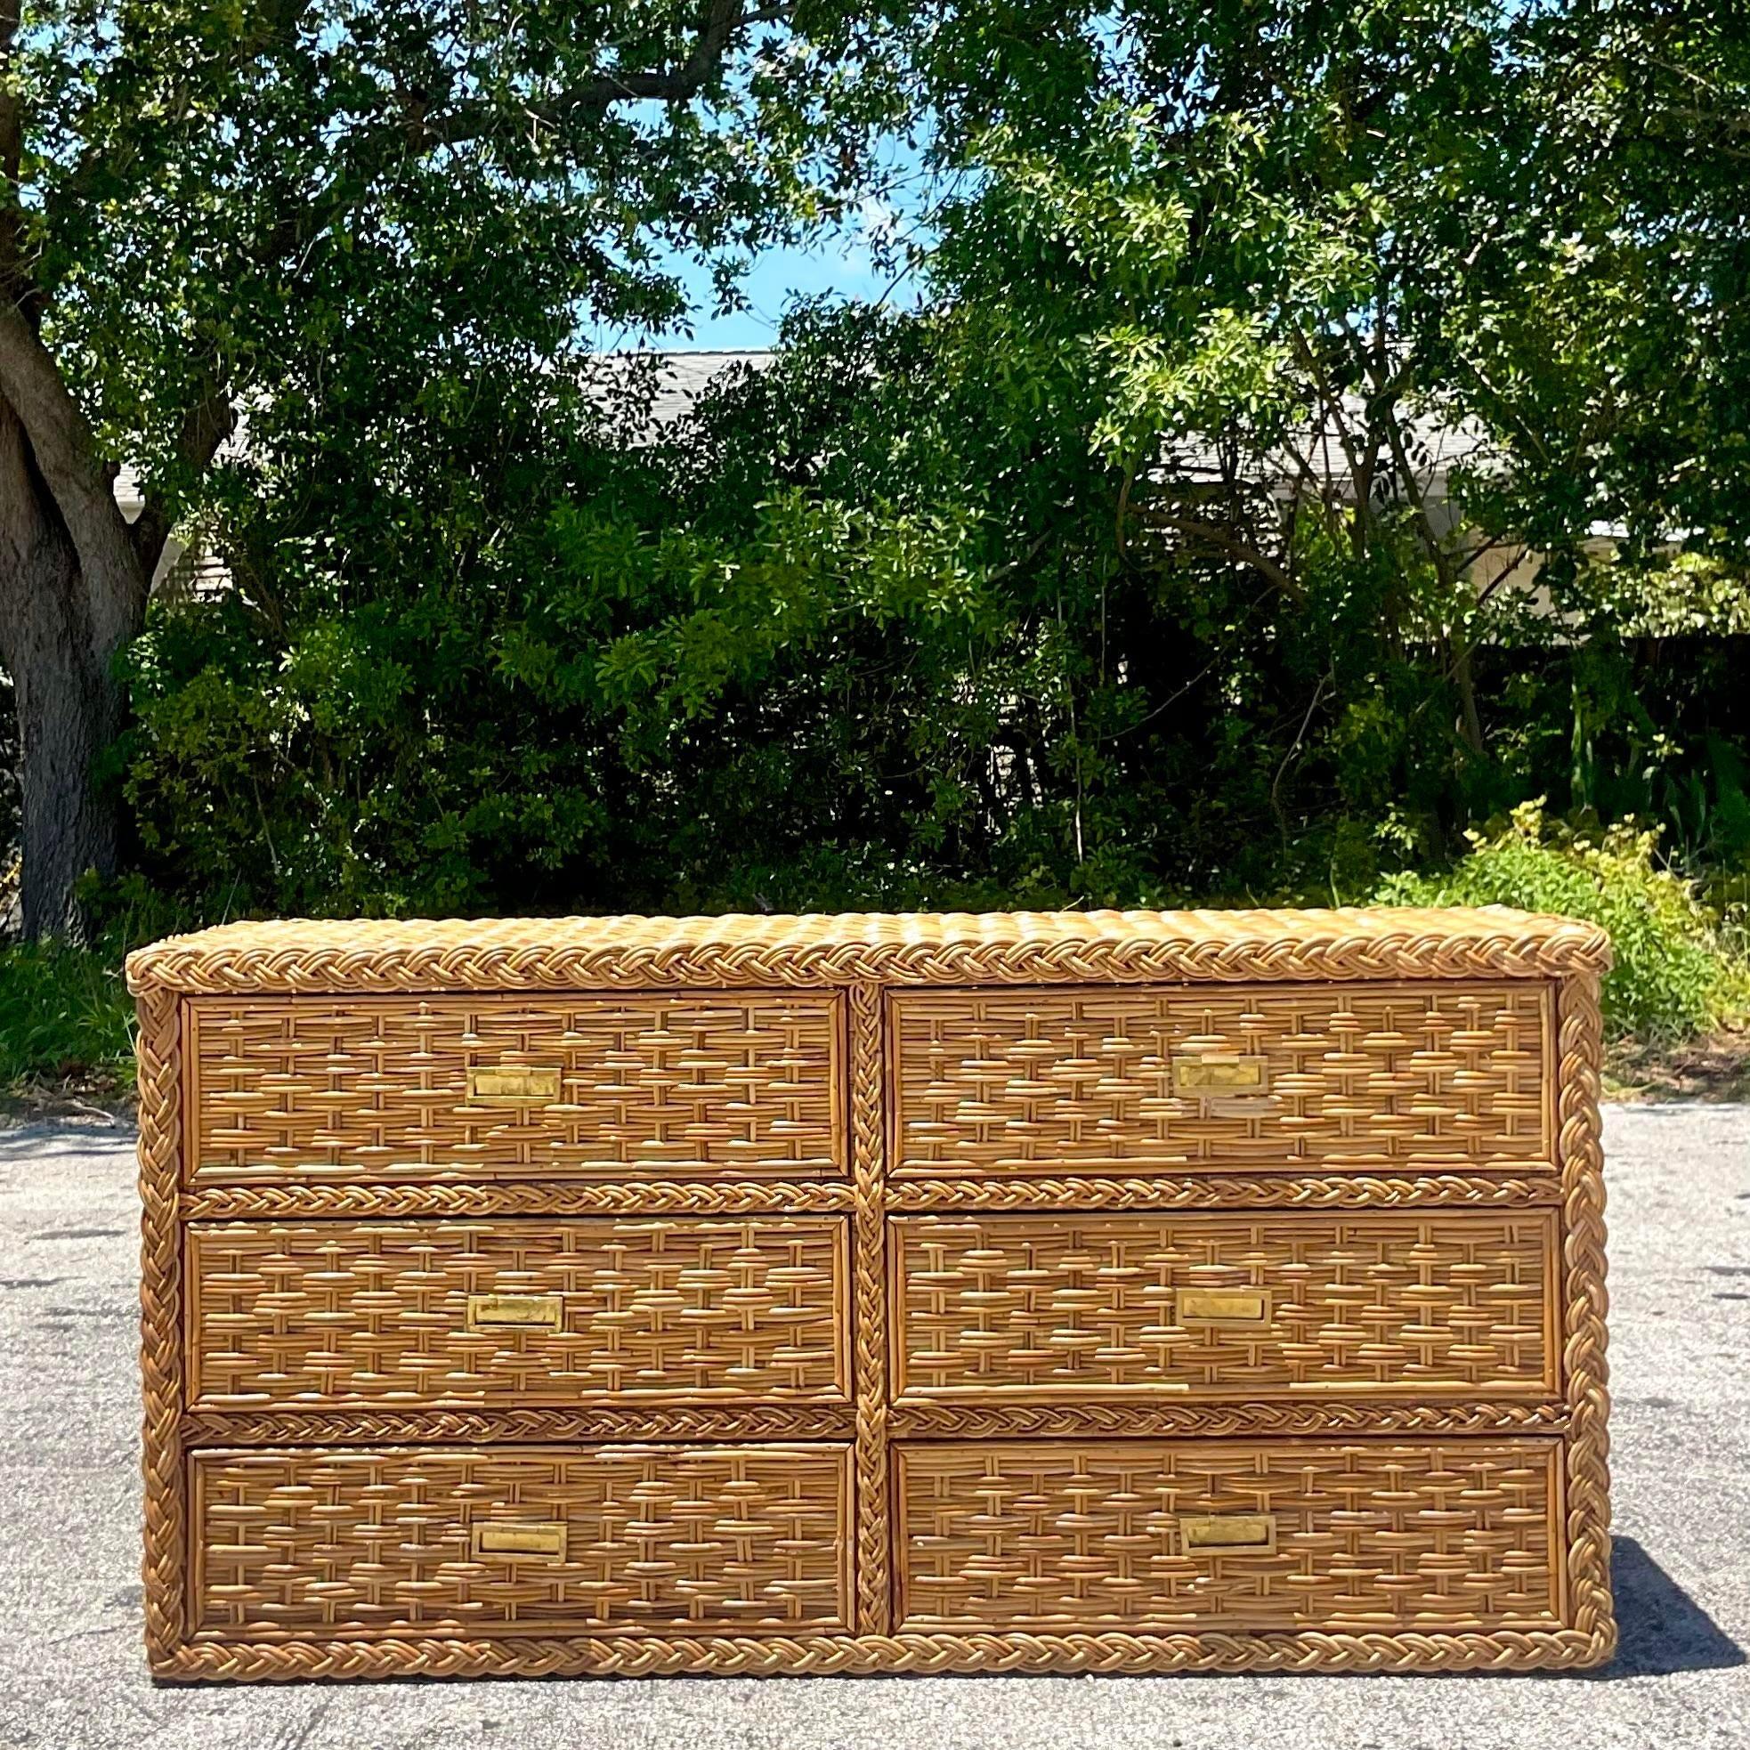
[[(844, 1218), (189, 1228), (189, 1395), (250, 1405), (847, 1402)], [(469, 1328), (476, 1295), (558, 1330)]]

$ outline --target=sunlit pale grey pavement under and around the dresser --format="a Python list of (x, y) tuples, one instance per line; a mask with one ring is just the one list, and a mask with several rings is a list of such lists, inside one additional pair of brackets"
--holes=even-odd
[(0, 1746), (1676, 1750), (1750, 1745), (1750, 1106), (1615, 1108), (1622, 1652), (1587, 1676), (985, 1676), (154, 1689), (133, 1138), (0, 1134)]

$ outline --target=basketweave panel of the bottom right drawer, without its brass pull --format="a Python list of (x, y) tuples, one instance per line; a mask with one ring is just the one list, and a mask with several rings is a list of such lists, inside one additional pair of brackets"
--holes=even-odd
[[(1554, 1440), (900, 1449), (912, 1631), (1466, 1631), (1559, 1617)], [(1276, 1547), (1186, 1550), (1260, 1514)]]

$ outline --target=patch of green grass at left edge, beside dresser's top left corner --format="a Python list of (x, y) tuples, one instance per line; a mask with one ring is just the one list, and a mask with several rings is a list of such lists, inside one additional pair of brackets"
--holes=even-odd
[(133, 1074), (133, 1003), (119, 954), (60, 943), (0, 950), (0, 1092)]

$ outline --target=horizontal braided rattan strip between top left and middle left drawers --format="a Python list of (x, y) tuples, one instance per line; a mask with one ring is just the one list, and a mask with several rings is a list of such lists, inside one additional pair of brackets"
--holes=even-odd
[[(187, 1192), (187, 1222), (324, 1216), (495, 1214), (814, 1214), (850, 1209), (849, 1185), (672, 1183), (649, 1185), (214, 1185)], [(1554, 1197), (1550, 1197), (1554, 1202)]]

